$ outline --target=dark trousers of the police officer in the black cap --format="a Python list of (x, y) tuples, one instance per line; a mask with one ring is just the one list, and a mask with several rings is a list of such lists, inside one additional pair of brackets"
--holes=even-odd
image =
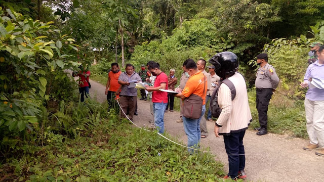
[(267, 129), (268, 126), (268, 106), (272, 96), (271, 88), (257, 88), (257, 109), (259, 113), (260, 126)]

